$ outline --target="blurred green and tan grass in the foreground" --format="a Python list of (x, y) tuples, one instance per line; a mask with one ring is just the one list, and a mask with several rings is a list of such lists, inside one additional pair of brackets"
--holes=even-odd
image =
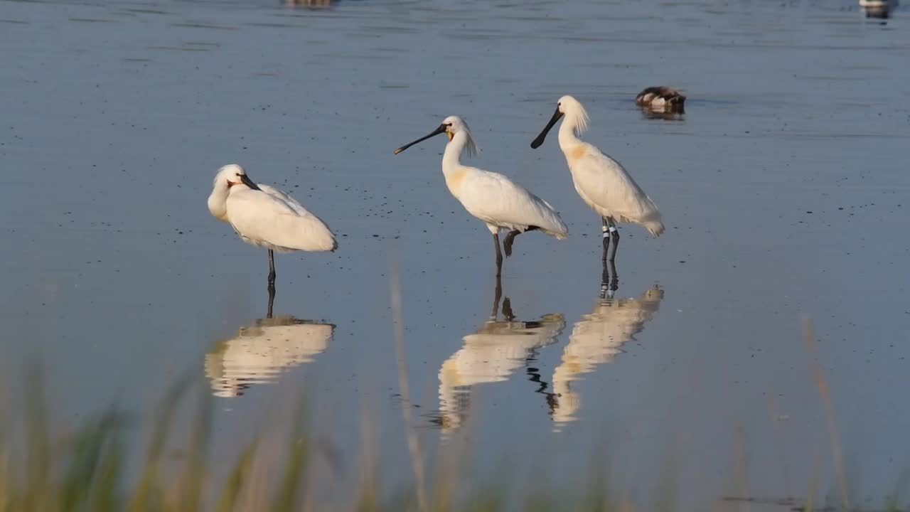
[[(814, 334), (808, 323), (805, 340), (814, 352)], [(399, 357), (399, 364), (403, 366), (403, 353), (399, 353)], [(835, 465), (841, 466), (840, 441), (834, 428), (824, 374), (817, 365), (812, 371), (829, 413)], [(213, 435), (214, 399), (207, 393), (200, 394), (199, 400), (187, 407), (192, 411), (191, 418), (182, 418), (190, 420), (187, 432), (174, 433), (175, 425), (180, 424), (180, 404), (187, 402), (187, 395), (191, 394), (188, 379), (172, 384), (154, 414), (149, 415), (154, 421), (147, 425), (146, 444), (141, 446), (126, 443), (130, 434), (127, 418), (116, 409), (84, 420), (73, 432), (54, 425), (49, 419), (45, 378), (40, 367), (33, 365), (25, 374), (27, 392), (23, 405), (16, 410), (0, 401), (0, 512), (630, 512), (682, 508), (674, 502), (673, 465), (668, 466), (667, 475), (662, 478), (665, 482), (656, 493), (659, 496), (652, 497), (652, 506), (642, 508), (622, 489), (612, 485), (608, 465), (603, 464), (602, 459), (593, 459), (587, 472), (586, 488), (569, 492), (551, 487), (545, 481), (514, 481), (517, 477), (509, 469), (485, 478), (461, 471), (465, 466), (463, 454), (470, 448), (462, 441), (440, 447), (437, 468), (424, 475), (423, 454), (416, 437), (410, 445), (414, 469), (410, 484), (394, 493), (383, 493), (380, 491), (382, 461), (374, 453), (374, 433), (369, 417), (364, 417), (361, 425), (363, 439), (359, 466), (346, 468), (356, 476), (354, 492), (345, 491), (347, 494), (340, 501), (337, 497), (330, 502), (324, 501), (325, 483), (337, 478), (341, 469), (324, 469), (327, 458), (324, 446), (318, 436), (308, 430), (307, 407), (302, 401), (287, 421), (281, 417), (260, 420), (263, 424), (286, 428), (284, 435), (260, 433), (241, 447), (227, 467), (216, 467), (210, 462), (208, 453)], [(408, 419), (406, 415), (406, 421)], [(597, 440), (592, 441), (596, 445)], [(179, 456), (173, 456), (175, 450)], [(331, 458), (330, 454), (328, 458)], [(843, 467), (835, 469), (838, 488), (828, 496), (829, 500), (834, 497), (835, 502), (839, 501), (836, 505), (819, 506), (816, 478), (807, 476), (804, 499), (718, 497), (709, 507), (697, 509), (896, 512), (902, 510), (899, 505), (905, 505), (899, 503), (902, 499), (899, 491), (905, 481), (898, 482), (893, 496), (877, 504), (876, 508), (867, 508), (868, 502), (862, 508), (851, 505)]]

